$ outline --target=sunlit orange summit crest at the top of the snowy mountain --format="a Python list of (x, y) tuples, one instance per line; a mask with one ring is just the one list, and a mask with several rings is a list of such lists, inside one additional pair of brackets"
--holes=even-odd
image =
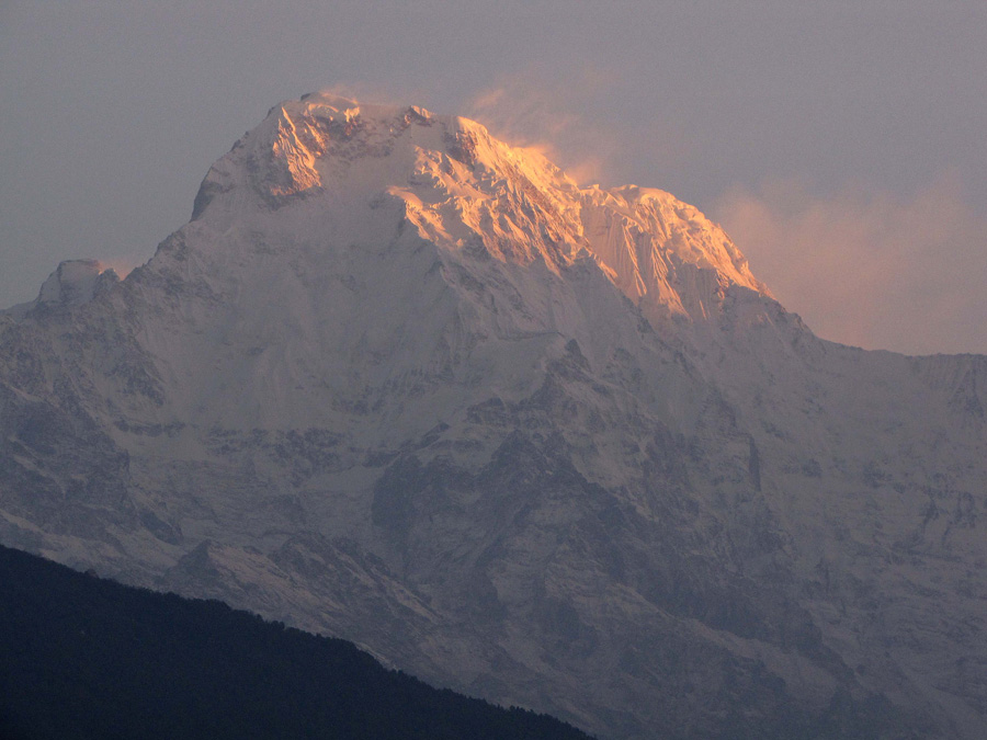
[(726, 234), (672, 195), (579, 187), (541, 153), (417, 105), (329, 92), (275, 105), (209, 170), (193, 221), (223, 230), (284, 208), (322, 238), (375, 242), (411, 227), (447, 251), (553, 271), (588, 258), (656, 321), (707, 317), (735, 284), (770, 295)]

